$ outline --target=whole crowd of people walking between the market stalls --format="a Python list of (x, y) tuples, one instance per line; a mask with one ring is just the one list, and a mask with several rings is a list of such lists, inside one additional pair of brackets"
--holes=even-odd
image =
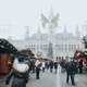
[(44, 60), (44, 59), (30, 59), (25, 60), (24, 58), (16, 58), (13, 62), (13, 69), (9, 73), (5, 84), (8, 85), (13, 76), (12, 87), (26, 87), (29, 79), (29, 74), (35, 73), (36, 79), (40, 78), (40, 72), (45, 73), (49, 70), (50, 73), (58, 73), (58, 65), (61, 66), (61, 72), (66, 71), (66, 83), (71, 77), (72, 85), (75, 85), (74, 76), (77, 73), (83, 73), (83, 60), (77, 62), (73, 58), (71, 61), (62, 59), (60, 62), (55, 60)]

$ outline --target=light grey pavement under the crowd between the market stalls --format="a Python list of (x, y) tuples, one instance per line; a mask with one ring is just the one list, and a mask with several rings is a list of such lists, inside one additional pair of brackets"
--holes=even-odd
[[(50, 73), (46, 71), (40, 73), (40, 79), (36, 79), (35, 74), (30, 74), (30, 79), (26, 87), (87, 87), (87, 74), (75, 75), (75, 86), (72, 86), (71, 80), (67, 85), (65, 82), (66, 74), (61, 73), (61, 67), (58, 69), (58, 74)], [(11, 87), (10, 85), (4, 85), (3, 80), (0, 80), (0, 87)]]

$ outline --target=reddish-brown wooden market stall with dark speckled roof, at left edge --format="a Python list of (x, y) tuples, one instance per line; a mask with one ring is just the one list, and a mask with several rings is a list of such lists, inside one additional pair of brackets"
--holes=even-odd
[(17, 49), (5, 39), (0, 39), (0, 75), (8, 74)]

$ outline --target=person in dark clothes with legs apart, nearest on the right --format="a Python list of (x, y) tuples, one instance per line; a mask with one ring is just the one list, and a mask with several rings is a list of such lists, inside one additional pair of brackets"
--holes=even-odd
[(71, 77), (72, 85), (75, 85), (74, 76), (76, 73), (76, 65), (73, 60), (65, 64), (66, 70), (66, 83), (69, 84), (69, 79)]

